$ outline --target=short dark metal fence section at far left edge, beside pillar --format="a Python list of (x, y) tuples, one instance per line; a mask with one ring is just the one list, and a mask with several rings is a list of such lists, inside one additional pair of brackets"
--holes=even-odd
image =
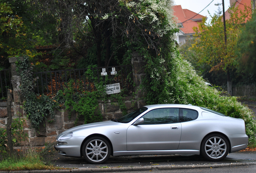
[(12, 89), (10, 69), (0, 70), (0, 80), (2, 94), (0, 100), (5, 100), (7, 98), (7, 89)]

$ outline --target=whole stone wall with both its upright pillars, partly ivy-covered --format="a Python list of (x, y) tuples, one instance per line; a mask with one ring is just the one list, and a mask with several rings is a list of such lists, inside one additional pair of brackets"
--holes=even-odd
[[(140, 56), (137, 53), (132, 54), (132, 67), (133, 67), (133, 82), (135, 84), (135, 96), (126, 97), (124, 103), (127, 109), (127, 112), (130, 113), (145, 105), (143, 101), (143, 96), (146, 94), (145, 91), (140, 87), (142, 79), (146, 77), (144, 73), (144, 60), (143, 56)], [(21, 60), (23, 58), (21, 57)], [(19, 86), (21, 84), (21, 78), (16, 72), (16, 57), (9, 58), (11, 64), (11, 74), (12, 74), (12, 87), (13, 87), (13, 103), (12, 103), (12, 117), (27, 117), (23, 111), (20, 101), (19, 101)], [(99, 110), (99, 111), (98, 111)], [(118, 106), (117, 100), (113, 101), (98, 101), (98, 110), (95, 112), (97, 114), (100, 112), (102, 115), (103, 121), (108, 121), (113, 118), (122, 117), (122, 111)], [(25, 120), (25, 132), (29, 135), (29, 143), (32, 146), (42, 146), (46, 142), (55, 143), (56, 137), (58, 134), (62, 133), (65, 130), (68, 130), (75, 126), (75, 120), (77, 114), (75, 112), (71, 113), (65, 110), (65, 107), (62, 107), (60, 110), (55, 110), (55, 118), (51, 119), (50, 116), (46, 117), (44, 123), (41, 123), (39, 129), (34, 129), (31, 127), (29, 119)], [(0, 128), (5, 128), (7, 124), (7, 104), (6, 102), (0, 102)], [(76, 125), (84, 124), (83, 116), (78, 118)]]

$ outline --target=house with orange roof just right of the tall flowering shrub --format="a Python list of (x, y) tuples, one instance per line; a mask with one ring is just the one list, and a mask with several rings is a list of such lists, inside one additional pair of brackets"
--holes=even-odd
[(188, 9), (182, 9), (181, 5), (173, 6), (173, 14), (178, 18), (180, 32), (178, 33), (177, 42), (180, 45), (193, 37), (193, 27), (198, 27), (198, 22), (202, 22), (202, 19), (206, 18), (206, 16), (202, 16)]

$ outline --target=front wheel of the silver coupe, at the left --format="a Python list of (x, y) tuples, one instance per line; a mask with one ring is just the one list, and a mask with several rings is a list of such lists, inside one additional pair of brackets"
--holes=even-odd
[(83, 144), (82, 154), (88, 163), (100, 164), (110, 157), (111, 147), (105, 138), (91, 137)]

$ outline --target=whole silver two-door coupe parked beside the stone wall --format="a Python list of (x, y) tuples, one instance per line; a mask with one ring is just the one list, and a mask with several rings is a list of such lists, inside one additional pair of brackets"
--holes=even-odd
[(110, 155), (194, 154), (209, 161), (246, 149), (242, 119), (192, 105), (149, 105), (99, 123), (60, 133), (55, 149), (64, 156), (104, 163)]

